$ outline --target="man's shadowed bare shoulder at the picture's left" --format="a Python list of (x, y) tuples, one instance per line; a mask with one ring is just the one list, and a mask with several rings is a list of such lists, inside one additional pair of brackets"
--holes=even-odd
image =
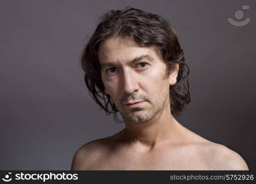
[(107, 154), (107, 140), (96, 139), (82, 145), (74, 154), (71, 170), (90, 170), (92, 164), (95, 165)]

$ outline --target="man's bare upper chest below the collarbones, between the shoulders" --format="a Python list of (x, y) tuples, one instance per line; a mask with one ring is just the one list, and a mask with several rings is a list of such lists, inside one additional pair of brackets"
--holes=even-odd
[(158, 151), (153, 154), (111, 153), (99, 159), (95, 170), (207, 170), (208, 161), (193, 151)]

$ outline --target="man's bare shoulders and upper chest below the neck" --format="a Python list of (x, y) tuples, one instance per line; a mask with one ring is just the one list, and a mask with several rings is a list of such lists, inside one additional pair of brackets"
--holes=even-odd
[[(114, 136), (94, 140), (76, 153), (72, 170), (248, 170), (238, 153), (210, 142), (180, 126), (179, 141), (163, 141), (149, 147), (127, 141), (125, 129)], [(184, 137), (182, 137), (184, 136)]]

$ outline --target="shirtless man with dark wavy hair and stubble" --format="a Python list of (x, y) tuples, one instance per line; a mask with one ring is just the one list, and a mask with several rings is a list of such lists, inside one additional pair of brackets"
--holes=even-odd
[(93, 99), (108, 115), (119, 112), (126, 128), (80, 147), (72, 170), (248, 170), (238, 153), (174, 118), (190, 102), (188, 67), (174, 29), (159, 15), (107, 12), (82, 67)]

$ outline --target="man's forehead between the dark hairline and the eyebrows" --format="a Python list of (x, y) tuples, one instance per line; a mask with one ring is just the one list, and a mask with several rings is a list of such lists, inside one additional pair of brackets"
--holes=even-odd
[(99, 61), (128, 62), (141, 55), (161, 59), (155, 47), (141, 47), (130, 37), (110, 37), (99, 47)]

